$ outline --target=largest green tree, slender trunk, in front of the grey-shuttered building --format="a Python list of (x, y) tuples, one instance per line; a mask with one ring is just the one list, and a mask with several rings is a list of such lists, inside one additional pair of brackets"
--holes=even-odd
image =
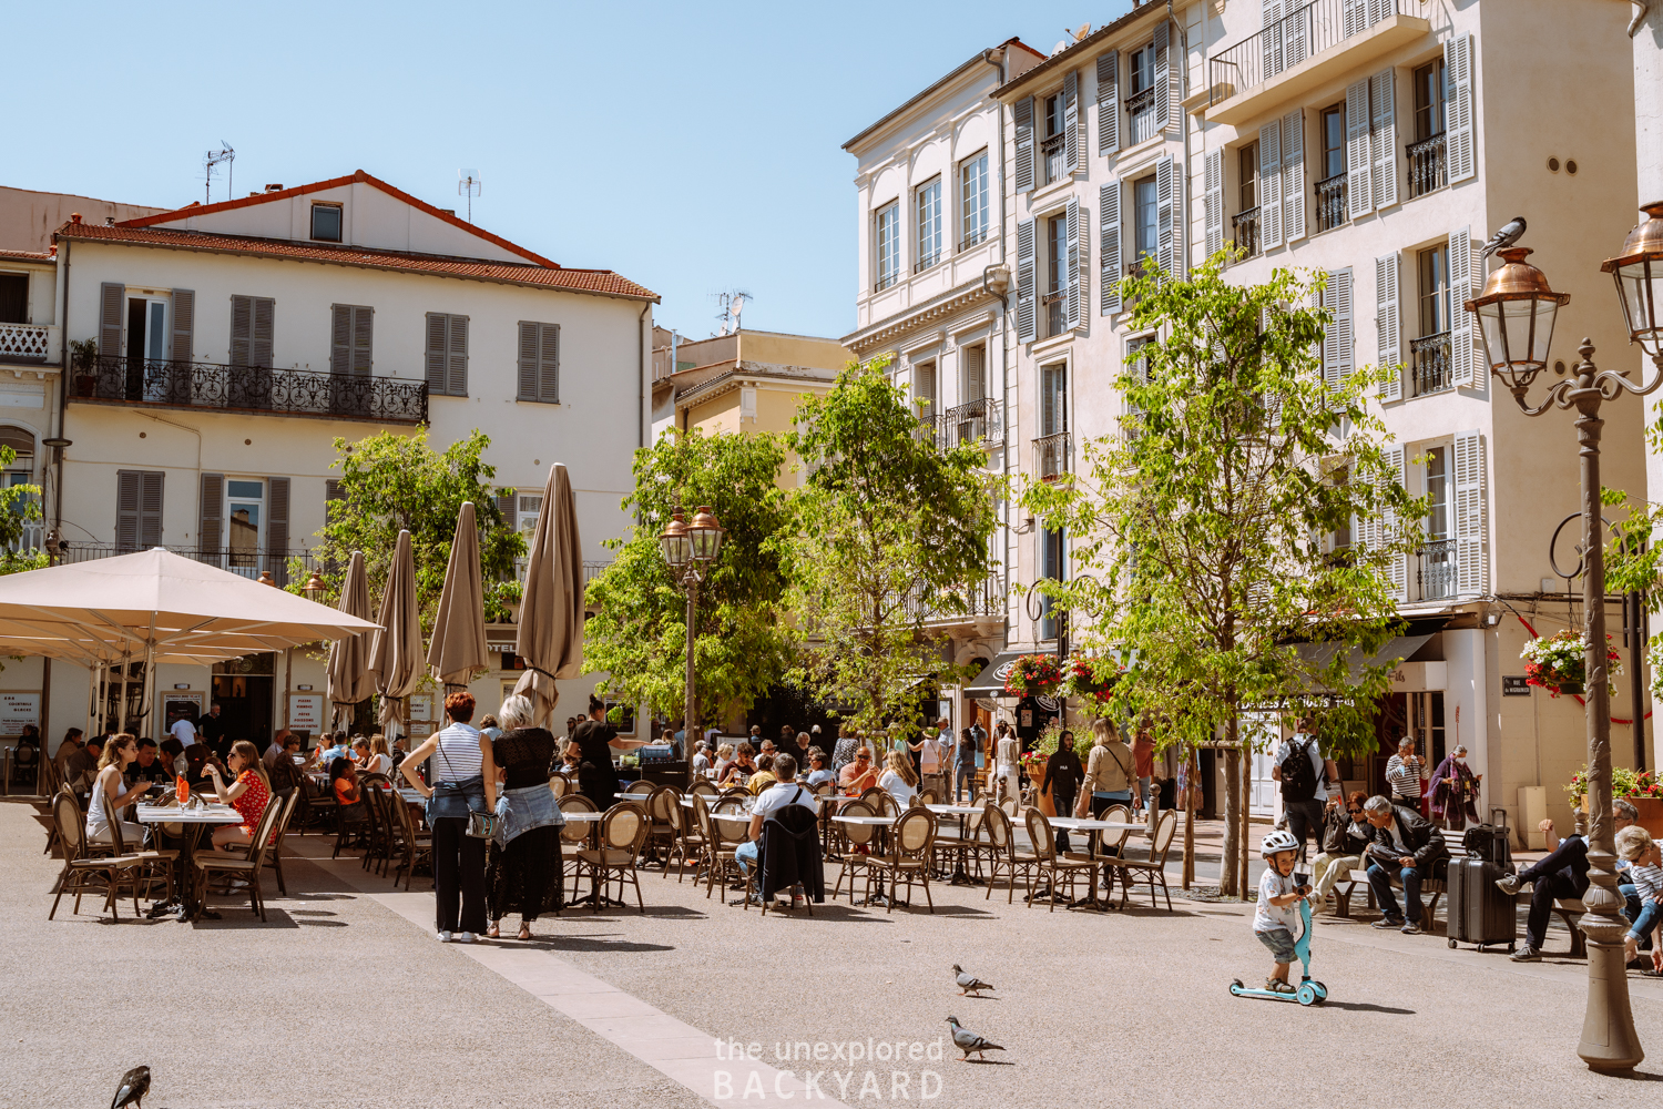
[[(1365, 404), (1380, 374), (1324, 382), (1332, 316), (1302, 308), (1314, 288), (1287, 269), (1229, 284), (1222, 256), (1186, 281), (1126, 281), (1133, 326), (1161, 338), (1116, 382), (1123, 434), (1084, 444), (1074, 479), (1023, 490), (1076, 567), (1041, 592), (1079, 614), (1101, 668), (1124, 663), (1103, 712), (1149, 722), (1186, 757), (1222, 742), (1226, 896), (1247, 893), (1249, 752), (1300, 715), (1334, 753), (1372, 750), (1395, 662), (1359, 672), (1350, 658), (1392, 635), (1389, 559), (1417, 545), (1425, 512)], [(1186, 828), (1186, 878), (1192, 858)]]

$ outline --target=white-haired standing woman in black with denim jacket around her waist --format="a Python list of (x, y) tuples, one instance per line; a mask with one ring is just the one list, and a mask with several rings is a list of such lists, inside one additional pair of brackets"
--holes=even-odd
[(544, 913), (560, 911), (560, 808), (549, 790), (554, 733), (532, 727), (532, 703), (516, 693), (502, 702), (497, 720), (502, 735), (491, 740), (497, 765), (499, 831), (486, 851), (486, 903), (491, 939), (501, 936), (502, 918), (521, 914), (521, 939)]

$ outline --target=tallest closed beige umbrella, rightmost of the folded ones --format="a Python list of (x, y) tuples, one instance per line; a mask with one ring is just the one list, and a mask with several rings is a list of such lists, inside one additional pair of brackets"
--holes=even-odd
[(555, 678), (575, 678), (584, 662), (584, 547), (572, 481), (560, 462), (549, 467), (529, 555), (514, 648), (526, 660), (526, 673), (514, 692), (530, 697), (540, 725), (560, 700)]

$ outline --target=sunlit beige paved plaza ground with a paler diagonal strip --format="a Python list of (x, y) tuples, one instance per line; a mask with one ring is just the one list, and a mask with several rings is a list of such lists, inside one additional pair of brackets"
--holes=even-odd
[[(96, 900), (80, 916), (65, 900), (48, 923), (60, 863), (42, 855), (30, 806), (0, 805), (0, 1106), (101, 1107), (138, 1062), (155, 1109), (782, 1094), (955, 1109), (1587, 1106), (1655, 1099), (1663, 1079), (1663, 981), (1630, 979), (1643, 1074), (1601, 1077), (1575, 1056), (1582, 963), (1515, 966), (1370, 929), (1367, 914), (1320, 918), (1314, 973), (1332, 999), (1304, 1009), (1226, 993), (1269, 969), (1239, 904), (1048, 913), (936, 885), (933, 916), (921, 898), (890, 914), (845, 898), (812, 919), (763, 919), (649, 870), (645, 914), (567, 909), (532, 943), (441, 946), (429, 883), (394, 891), (356, 858), (331, 861), (331, 845), (289, 836), (291, 853), (323, 858), (288, 861), (286, 898), (268, 875), (264, 924), (239, 908), (195, 926), (113, 924)], [(1550, 933), (1548, 949), (1567, 936)], [(998, 989), (960, 998), (953, 963)], [(948, 1014), (1006, 1051), (960, 1062)], [(735, 1042), (758, 1059), (730, 1057)]]

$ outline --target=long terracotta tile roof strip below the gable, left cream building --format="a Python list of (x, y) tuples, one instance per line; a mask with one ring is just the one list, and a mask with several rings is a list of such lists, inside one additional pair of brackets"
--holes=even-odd
[[(276, 193), (273, 193), (274, 196)], [(234, 203), (234, 201), (233, 201)], [(175, 231), (173, 228), (133, 226), (135, 219), (116, 226), (65, 223), (53, 239), (85, 239), (96, 243), (123, 243), (133, 246), (160, 246), (170, 249), (208, 251), (223, 254), (259, 254), (264, 258), (289, 258), (294, 261), (333, 263), (338, 266), (366, 266), (399, 273), (429, 273), (447, 278), (474, 278), (479, 281), (504, 281), (545, 289), (572, 293), (600, 293), (657, 301), (652, 289), (620, 278), (610, 269), (562, 269), (559, 266), (516, 264), (481, 261), (477, 258), (444, 258), (437, 254), (407, 254), (401, 251), (376, 251), (356, 246), (329, 246), (324, 243), (291, 243), (288, 239), (256, 239), (239, 234), (213, 234), (208, 231)]]

